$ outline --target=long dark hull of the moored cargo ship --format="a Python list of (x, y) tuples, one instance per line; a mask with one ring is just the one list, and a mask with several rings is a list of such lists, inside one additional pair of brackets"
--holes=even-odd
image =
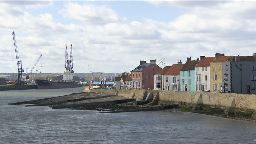
[(72, 82), (50, 82), (48, 80), (36, 80), (37, 89), (60, 89), (60, 88), (74, 88), (77, 84)]

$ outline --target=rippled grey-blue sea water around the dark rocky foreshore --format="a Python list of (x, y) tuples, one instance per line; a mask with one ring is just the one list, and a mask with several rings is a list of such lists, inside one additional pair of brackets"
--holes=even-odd
[(0, 143), (256, 143), (255, 123), (208, 115), (175, 111), (99, 114), (47, 106), (7, 105), (82, 90), (83, 87), (0, 91)]

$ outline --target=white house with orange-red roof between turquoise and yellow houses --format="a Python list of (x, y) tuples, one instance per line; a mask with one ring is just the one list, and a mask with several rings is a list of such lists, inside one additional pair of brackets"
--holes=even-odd
[(196, 91), (210, 91), (210, 62), (213, 62), (214, 58), (200, 56), (195, 66)]

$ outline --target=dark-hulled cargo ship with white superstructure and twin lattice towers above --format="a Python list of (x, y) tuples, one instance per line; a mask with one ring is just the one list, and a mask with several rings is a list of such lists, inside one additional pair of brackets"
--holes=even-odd
[(65, 57), (65, 68), (66, 71), (62, 73), (61, 81), (49, 81), (43, 79), (37, 79), (37, 89), (58, 89), (58, 88), (74, 88), (77, 83), (73, 80), (73, 54), (72, 54), (72, 44), (70, 50), (70, 57), (68, 59), (67, 44), (66, 44), (66, 57)]

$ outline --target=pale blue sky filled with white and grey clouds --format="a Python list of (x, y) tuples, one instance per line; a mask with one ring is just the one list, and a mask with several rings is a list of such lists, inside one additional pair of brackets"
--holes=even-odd
[(0, 1), (0, 73), (121, 73), (140, 60), (256, 53), (256, 1)]

